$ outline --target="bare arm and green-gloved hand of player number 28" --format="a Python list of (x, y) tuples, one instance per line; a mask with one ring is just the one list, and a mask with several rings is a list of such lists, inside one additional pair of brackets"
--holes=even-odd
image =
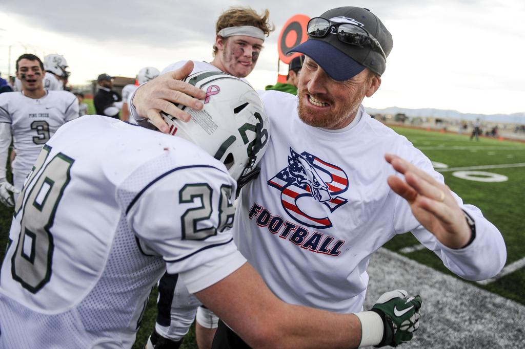
[(421, 298), (402, 290), (385, 293), (371, 311), (357, 314), (293, 306), (275, 297), (249, 264), (195, 296), (251, 347), (269, 348), (395, 346), (412, 339), (421, 307)]

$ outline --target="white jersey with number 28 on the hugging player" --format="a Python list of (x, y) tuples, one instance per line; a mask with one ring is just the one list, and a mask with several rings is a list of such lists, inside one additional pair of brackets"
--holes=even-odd
[(182, 138), (99, 115), (62, 126), (15, 206), (0, 347), (131, 347), (166, 266), (197, 292), (245, 263), (235, 190)]

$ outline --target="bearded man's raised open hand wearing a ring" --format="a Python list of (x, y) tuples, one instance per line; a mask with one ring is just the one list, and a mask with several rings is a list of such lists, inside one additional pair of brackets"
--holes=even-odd
[(448, 186), (396, 155), (385, 159), (405, 176), (388, 177), (388, 186), (408, 202), (419, 223), (449, 248), (467, 245), (471, 231)]

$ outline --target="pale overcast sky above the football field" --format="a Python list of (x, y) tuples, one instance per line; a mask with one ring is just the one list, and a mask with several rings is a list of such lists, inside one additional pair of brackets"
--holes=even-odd
[(255, 88), (276, 82), (277, 39), (288, 18), (362, 6), (394, 40), (381, 88), (365, 106), (525, 112), (523, 0), (0, 0), (0, 71), (5, 77), (9, 48), (12, 73), (24, 50), (62, 54), (72, 84), (104, 72), (134, 77), (145, 66), (211, 61), (215, 21), (235, 5), (266, 6), (276, 27), (248, 76)]

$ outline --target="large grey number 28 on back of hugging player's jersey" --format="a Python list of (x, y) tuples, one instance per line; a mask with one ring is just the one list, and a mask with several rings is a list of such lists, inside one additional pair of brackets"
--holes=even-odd
[[(15, 207), (15, 215), (20, 213), (26, 190), (31, 187), (50, 150), (49, 146), (44, 146), (29, 172)], [(38, 292), (51, 277), (54, 245), (50, 229), (62, 193), (69, 183), (74, 161), (62, 153), (57, 154), (40, 173), (25, 200), (18, 243), (12, 258), (12, 274), (13, 279), (31, 293)]]

